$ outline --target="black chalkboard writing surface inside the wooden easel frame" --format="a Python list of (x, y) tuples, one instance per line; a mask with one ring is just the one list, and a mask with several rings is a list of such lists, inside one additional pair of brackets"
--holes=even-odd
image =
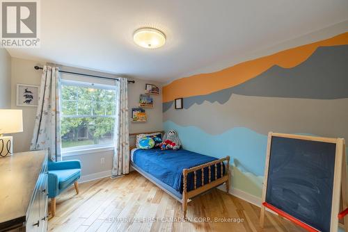
[(273, 136), (266, 202), (319, 231), (330, 231), (335, 143)]

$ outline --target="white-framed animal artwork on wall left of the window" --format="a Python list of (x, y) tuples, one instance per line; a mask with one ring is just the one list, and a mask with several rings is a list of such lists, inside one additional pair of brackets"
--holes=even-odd
[(38, 85), (17, 84), (17, 106), (38, 106)]

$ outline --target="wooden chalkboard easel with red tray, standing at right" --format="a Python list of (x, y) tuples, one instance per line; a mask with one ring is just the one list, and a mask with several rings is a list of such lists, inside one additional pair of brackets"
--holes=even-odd
[(347, 197), (344, 139), (269, 132), (262, 228), (269, 208), (308, 231), (338, 231), (342, 219), (348, 232)]

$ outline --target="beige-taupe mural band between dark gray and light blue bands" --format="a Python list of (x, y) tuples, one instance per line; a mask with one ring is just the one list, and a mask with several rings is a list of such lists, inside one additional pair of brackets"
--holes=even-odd
[(167, 110), (163, 120), (181, 126), (197, 126), (216, 135), (242, 126), (267, 135), (310, 133), (348, 140), (348, 99), (291, 99), (232, 94), (220, 104), (205, 101), (189, 109)]

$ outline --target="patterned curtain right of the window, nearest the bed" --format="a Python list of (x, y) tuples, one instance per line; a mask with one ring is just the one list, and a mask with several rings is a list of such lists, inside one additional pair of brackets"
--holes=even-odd
[(113, 154), (113, 176), (129, 173), (129, 125), (128, 125), (128, 81), (120, 78), (116, 81), (116, 119), (115, 151)]

